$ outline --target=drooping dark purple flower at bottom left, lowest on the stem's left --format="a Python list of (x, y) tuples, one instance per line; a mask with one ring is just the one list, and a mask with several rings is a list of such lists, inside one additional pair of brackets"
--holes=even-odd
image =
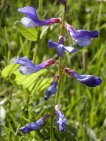
[(45, 115), (42, 118), (40, 118), (39, 120), (37, 120), (36, 122), (31, 122), (26, 124), (25, 126), (20, 128), (20, 131), (24, 134), (29, 133), (32, 130), (37, 130), (40, 128), (40, 126), (42, 126), (44, 124), (44, 122), (46, 121), (46, 119), (49, 117), (49, 115)]

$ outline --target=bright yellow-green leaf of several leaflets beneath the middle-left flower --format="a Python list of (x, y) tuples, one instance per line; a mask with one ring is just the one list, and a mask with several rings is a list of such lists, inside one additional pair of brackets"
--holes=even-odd
[[(9, 78), (11, 81), (15, 82), (16, 85), (33, 92), (47, 88), (53, 81), (53, 78), (44, 78), (44, 75), (47, 74), (47, 69), (42, 69), (30, 75), (22, 75), (18, 71), (18, 67), (19, 65), (17, 64), (6, 66), (1, 72), (2, 77)], [(12, 76), (15, 76), (14, 79), (12, 79)]]

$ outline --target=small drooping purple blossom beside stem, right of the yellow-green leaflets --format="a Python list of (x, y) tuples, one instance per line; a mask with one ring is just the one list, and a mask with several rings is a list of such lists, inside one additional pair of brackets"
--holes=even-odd
[(47, 88), (44, 99), (48, 100), (48, 98), (57, 92), (57, 85), (58, 85), (59, 76), (55, 76), (53, 82)]

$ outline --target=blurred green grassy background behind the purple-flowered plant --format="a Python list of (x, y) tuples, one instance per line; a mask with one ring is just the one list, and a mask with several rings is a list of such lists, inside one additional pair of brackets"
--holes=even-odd
[[(48, 48), (48, 40), (58, 41), (61, 26), (37, 28), (36, 41), (25, 39), (16, 26), (22, 14), (17, 9), (24, 6), (37, 9), (40, 19), (62, 17), (63, 5), (57, 0), (1, 0), (0, 1), (0, 140), (1, 141), (49, 141), (50, 120), (38, 131), (24, 135), (19, 128), (36, 121), (54, 108), (53, 95), (44, 101), (46, 87), (57, 67), (43, 71), (43, 75), (22, 78), (16, 83), (15, 74), (2, 75), (2, 70), (18, 56), (27, 56), (34, 63), (49, 58), (58, 60), (55, 50)], [(99, 37), (88, 47), (70, 55), (65, 53), (62, 67), (70, 67), (80, 74), (100, 76), (102, 84), (88, 88), (64, 74), (61, 86), (61, 106), (67, 118), (67, 130), (60, 133), (54, 122), (54, 141), (106, 141), (106, 2), (96, 0), (68, 0), (65, 21), (75, 29), (97, 29)], [(64, 30), (65, 44), (71, 45), (69, 33)], [(7, 72), (6, 72), (7, 73)], [(49, 79), (50, 78), (50, 79)], [(17, 78), (18, 79), (18, 78)], [(41, 84), (41, 81), (43, 82)], [(44, 81), (43, 81), (44, 80)], [(50, 80), (50, 81), (49, 81)], [(30, 88), (28, 84), (33, 84)], [(27, 86), (26, 86), (27, 85)], [(32, 85), (31, 85), (32, 86)]]

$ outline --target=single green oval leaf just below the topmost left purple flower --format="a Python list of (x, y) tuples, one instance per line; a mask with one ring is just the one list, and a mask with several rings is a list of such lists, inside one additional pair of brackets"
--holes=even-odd
[(36, 28), (26, 28), (23, 25), (21, 25), (20, 22), (16, 22), (17, 30), (27, 39), (30, 41), (36, 41), (37, 40), (37, 30)]

